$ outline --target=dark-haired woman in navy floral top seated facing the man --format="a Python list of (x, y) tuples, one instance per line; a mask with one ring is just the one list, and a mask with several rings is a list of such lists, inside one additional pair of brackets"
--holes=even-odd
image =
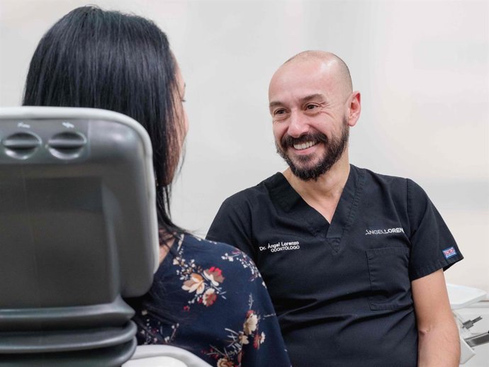
[(160, 266), (150, 291), (130, 300), (140, 344), (172, 344), (213, 366), (290, 366), (269, 295), (252, 261), (176, 226), (171, 182), (188, 128), (185, 84), (166, 35), (151, 21), (93, 6), (60, 19), (35, 50), (26, 106), (103, 108), (150, 135)]

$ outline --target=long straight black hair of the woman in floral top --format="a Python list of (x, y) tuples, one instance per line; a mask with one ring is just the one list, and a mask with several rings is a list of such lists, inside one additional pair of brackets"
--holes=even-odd
[(167, 36), (152, 21), (83, 6), (40, 40), (23, 98), (24, 106), (103, 108), (140, 123), (152, 142), (159, 227), (169, 237), (183, 232), (169, 208), (183, 128), (176, 67)]

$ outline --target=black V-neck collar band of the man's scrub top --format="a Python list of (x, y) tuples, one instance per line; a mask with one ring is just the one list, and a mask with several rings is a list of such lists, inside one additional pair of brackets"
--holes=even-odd
[(350, 164), (347, 183), (344, 185), (331, 223), (308, 205), (280, 172), (271, 176), (264, 184), (269, 190), (271, 200), (281, 210), (302, 221), (313, 235), (324, 238), (337, 253), (344, 233), (349, 230), (355, 218), (364, 186), (364, 176), (363, 169)]

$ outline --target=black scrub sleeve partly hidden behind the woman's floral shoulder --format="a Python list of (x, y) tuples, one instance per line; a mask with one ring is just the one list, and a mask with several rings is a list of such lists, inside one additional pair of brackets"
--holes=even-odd
[(227, 198), (215, 215), (206, 239), (237, 247), (256, 262), (257, 253), (252, 244), (252, 226), (250, 223), (250, 218), (247, 218), (243, 210), (232, 203), (231, 198)]

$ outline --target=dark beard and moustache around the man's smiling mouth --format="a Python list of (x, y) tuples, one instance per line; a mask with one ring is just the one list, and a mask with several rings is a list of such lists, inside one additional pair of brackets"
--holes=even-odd
[[(338, 159), (342, 157), (344, 149), (347, 148), (349, 138), (349, 126), (347, 118), (343, 118), (342, 135), (340, 137), (332, 137), (328, 139), (326, 135), (321, 132), (315, 134), (305, 134), (300, 137), (291, 137), (290, 135), (284, 135), (280, 141), (275, 142), (277, 153), (285, 160), (288, 166), (291, 168), (294, 176), (297, 176), (303, 181), (314, 180), (317, 181), (319, 176), (325, 174), (330, 168), (338, 162)], [(326, 147), (325, 154), (314, 166), (310, 165), (310, 162), (314, 159), (312, 155), (304, 155), (296, 157), (296, 162), (293, 162), (291, 157), (286, 153), (288, 147), (293, 147), (294, 144), (300, 144), (303, 142), (316, 142), (322, 143)]]

